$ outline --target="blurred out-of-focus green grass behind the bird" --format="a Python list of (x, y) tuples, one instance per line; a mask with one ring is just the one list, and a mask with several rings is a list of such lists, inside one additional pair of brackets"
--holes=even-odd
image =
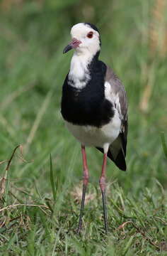
[[(108, 161), (108, 181), (117, 179), (135, 198), (146, 187), (154, 191), (156, 179), (167, 188), (160, 138), (162, 131), (167, 136), (166, 10), (163, 0), (0, 1), (0, 160), (22, 144), (30, 161), (15, 157), (11, 183), (31, 193), (37, 184), (50, 195), (50, 154), (61, 193), (81, 180), (80, 145), (60, 114), (72, 55), (62, 50), (71, 26), (91, 22), (100, 30), (100, 59), (122, 80), (129, 102), (127, 172)], [(98, 186), (103, 156), (96, 149), (87, 152), (91, 183)]]

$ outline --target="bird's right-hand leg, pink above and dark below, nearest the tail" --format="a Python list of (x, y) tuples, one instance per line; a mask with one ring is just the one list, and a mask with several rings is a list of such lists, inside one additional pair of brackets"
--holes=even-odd
[(105, 233), (108, 233), (108, 215), (107, 215), (107, 208), (105, 202), (105, 171), (106, 171), (106, 164), (107, 164), (108, 154), (103, 155), (103, 166), (101, 171), (101, 176), (99, 180), (101, 194), (103, 199), (103, 214), (104, 214), (104, 223), (105, 223)]

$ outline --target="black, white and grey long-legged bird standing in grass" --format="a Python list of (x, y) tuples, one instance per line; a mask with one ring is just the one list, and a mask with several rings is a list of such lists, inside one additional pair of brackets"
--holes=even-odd
[(72, 26), (71, 42), (63, 53), (71, 49), (74, 49), (74, 54), (62, 86), (61, 113), (67, 129), (81, 143), (84, 176), (77, 233), (82, 229), (89, 179), (86, 146), (93, 146), (103, 153), (99, 185), (103, 200), (104, 229), (108, 234), (106, 164), (109, 158), (122, 171), (127, 169), (127, 94), (113, 69), (99, 60), (101, 38), (95, 25), (77, 23)]

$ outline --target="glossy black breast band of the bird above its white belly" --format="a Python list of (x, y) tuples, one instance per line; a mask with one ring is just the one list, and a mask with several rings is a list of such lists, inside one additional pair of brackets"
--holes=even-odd
[(101, 127), (114, 115), (113, 105), (105, 99), (106, 66), (97, 61), (90, 67), (91, 80), (81, 90), (69, 85), (68, 75), (62, 89), (62, 116), (68, 122)]

